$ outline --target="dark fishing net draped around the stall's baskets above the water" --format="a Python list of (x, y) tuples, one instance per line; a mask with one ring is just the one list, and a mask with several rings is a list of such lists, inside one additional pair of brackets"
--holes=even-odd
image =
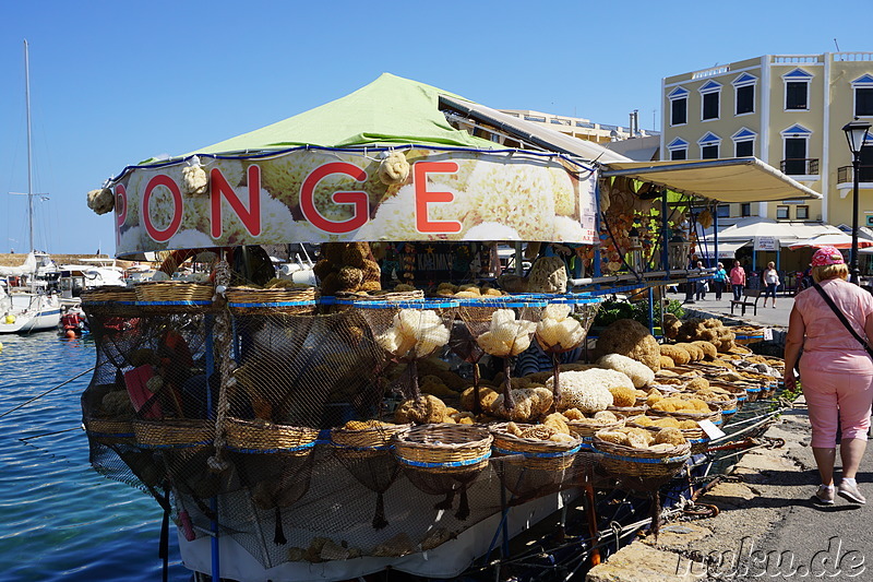
[[(97, 348), (82, 397), (92, 464), (156, 499), (169, 488), (186, 538), (229, 536), (265, 568), (402, 556), (584, 480), (579, 454), (547, 475), (492, 460), (483, 425), (392, 416), (400, 399), (416, 402), (423, 378), (469, 385), (444, 356), (464, 332), (481, 357), (470, 341), (488, 329), (463, 311), (455, 322), (457, 302), (261, 299), (83, 306)], [(512, 310), (529, 344), (541, 307), (504, 301), (485, 319)]]

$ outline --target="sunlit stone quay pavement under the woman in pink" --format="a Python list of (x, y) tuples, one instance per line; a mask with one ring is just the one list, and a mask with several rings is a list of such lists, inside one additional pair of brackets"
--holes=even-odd
[[(707, 296), (685, 308), (730, 318), (729, 299)], [(778, 297), (776, 309), (760, 307), (757, 317), (746, 311), (744, 320), (787, 328), (792, 305), (791, 297)], [(718, 507), (717, 516), (668, 522), (657, 541), (649, 536), (625, 546), (586, 581), (873, 580), (873, 451), (858, 474), (871, 502), (857, 506), (838, 497), (835, 506), (820, 508), (810, 499), (818, 473), (803, 399), (764, 436), (784, 439), (785, 446), (744, 454), (731, 473), (737, 478), (698, 500)]]

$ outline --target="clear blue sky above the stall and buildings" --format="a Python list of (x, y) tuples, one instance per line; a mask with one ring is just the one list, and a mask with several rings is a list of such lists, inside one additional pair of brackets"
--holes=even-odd
[[(601, 5), (595, 5), (601, 4)], [(85, 193), (342, 97), (391, 72), (497, 108), (660, 126), (661, 78), (767, 54), (873, 50), (870, 0), (124, 2), (5, 0), (0, 252), (27, 247), (23, 40), (35, 246), (113, 253)]]

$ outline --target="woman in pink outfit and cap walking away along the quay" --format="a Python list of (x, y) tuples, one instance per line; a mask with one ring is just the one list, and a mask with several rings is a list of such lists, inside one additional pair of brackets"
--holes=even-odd
[(848, 276), (839, 250), (822, 247), (815, 251), (812, 277), (816, 285), (794, 298), (785, 345), (785, 385), (789, 390), (797, 387), (794, 367), (800, 359), (812, 452), (822, 477), (813, 501), (824, 506), (834, 504), (837, 430), (842, 479), (836, 492), (854, 503), (866, 502), (856, 475), (866, 449), (873, 401), (873, 359), (868, 346), (873, 338), (873, 295), (848, 283)]

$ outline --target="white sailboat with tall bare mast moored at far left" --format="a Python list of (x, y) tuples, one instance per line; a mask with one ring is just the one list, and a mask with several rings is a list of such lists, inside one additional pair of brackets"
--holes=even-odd
[(39, 264), (34, 253), (34, 193), (31, 142), (31, 72), (27, 40), (24, 41), (24, 87), (27, 104), (27, 225), (31, 252), (20, 266), (0, 268), (0, 333), (57, 330), (61, 320), (60, 298), (39, 286)]

